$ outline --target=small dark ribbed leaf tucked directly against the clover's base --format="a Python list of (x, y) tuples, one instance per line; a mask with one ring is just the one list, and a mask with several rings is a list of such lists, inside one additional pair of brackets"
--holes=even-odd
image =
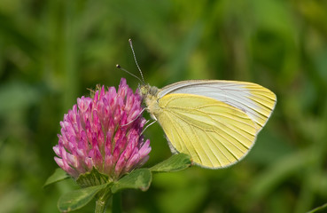
[(83, 188), (90, 187), (93, 185), (103, 185), (108, 182), (108, 176), (98, 172), (98, 170), (93, 167), (93, 169), (90, 172), (86, 172), (80, 175), (76, 179), (76, 182), (78, 185), (81, 185)]

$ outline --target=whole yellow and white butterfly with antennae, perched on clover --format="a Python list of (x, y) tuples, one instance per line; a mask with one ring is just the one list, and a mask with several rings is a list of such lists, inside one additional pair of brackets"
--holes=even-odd
[[(144, 83), (137, 61), (136, 66)], [(209, 169), (243, 159), (276, 105), (272, 91), (236, 81), (183, 81), (162, 89), (143, 84), (139, 92), (171, 151), (189, 154), (195, 164)]]

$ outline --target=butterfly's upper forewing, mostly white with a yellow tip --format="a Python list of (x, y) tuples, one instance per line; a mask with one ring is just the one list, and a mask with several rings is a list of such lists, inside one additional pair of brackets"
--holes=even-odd
[(266, 124), (276, 105), (276, 95), (256, 83), (195, 80), (167, 85), (160, 90), (158, 98), (167, 94), (193, 94), (222, 101), (247, 114), (259, 132)]

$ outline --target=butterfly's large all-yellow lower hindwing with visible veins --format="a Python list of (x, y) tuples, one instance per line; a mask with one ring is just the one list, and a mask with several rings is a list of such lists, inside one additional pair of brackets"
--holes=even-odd
[(170, 93), (152, 112), (179, 153), (199, 166), (217, 169), (240, 159), (254, 144), (255, 122), (244, 111), (222, 101), (192, 94)]

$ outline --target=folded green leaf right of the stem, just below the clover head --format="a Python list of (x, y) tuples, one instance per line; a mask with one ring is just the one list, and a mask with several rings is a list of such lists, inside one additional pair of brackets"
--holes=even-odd
[(152, 181), (152, 173), (148, 169), (134, 170), (128, 175), (122, 177), (113, 184), (112, 192), (117, 193), (121, 189), (133, 188), (146, 191)]

